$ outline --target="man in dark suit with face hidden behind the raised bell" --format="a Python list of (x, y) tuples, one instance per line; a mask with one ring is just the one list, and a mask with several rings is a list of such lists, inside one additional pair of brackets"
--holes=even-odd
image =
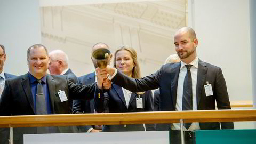
[[(109, 47), (107, 44), (100, 42), (93, 45), (92, 52), (101, 48), (105, 48), (109, 50)], [(112, 54), (110, 54), (109, 56), (108, 64), (110, 63), (111, 58), (112, 58)], [(97, 63), (95, 63), (93, 60), (92, 62), (93, 62), (94, 68), (97, 68)], [(97, 79), (95, 78), (95, 72), (78, 77), (78, 79), (79, 79), (79, 84), (82, 84), (82, 85), (92, 84), (97, 81)], [(72, 111), (74, 114), (94, 113), (94, 99), (74, 100)], [(78, 129), (79, 129), (79, 132), (101, 132), (102, 126), (85, 125), (85, 126), (79, 126)]]

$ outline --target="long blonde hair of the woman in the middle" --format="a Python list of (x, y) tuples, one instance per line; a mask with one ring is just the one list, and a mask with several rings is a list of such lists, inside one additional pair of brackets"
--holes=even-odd
[(132, 60), (135, 65), (132, 69), (132, 77), (140, 78), (141, 74), (140, 74), (139, 62), (137, 60), (137, 52), (130, 46), (123, 45), (123, 46), (118, 47), (118, 49), (116, 50), (115, 55), (114, 55), (114, 68), (116, 68), (116, 54), (117, 54), (117, 52), (122, 51), (122, 50), (126, 50), (126, 51), (130, 52), (130, 54), (132, 56)]

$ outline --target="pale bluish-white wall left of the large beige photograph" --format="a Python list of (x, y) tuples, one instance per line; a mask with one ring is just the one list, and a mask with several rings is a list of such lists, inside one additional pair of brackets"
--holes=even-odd
[(6, 73), (28, 72), (27, 49), (41, 43), (39, 18), (39, 0), (0, 0), (0, 43), (6, 49)]

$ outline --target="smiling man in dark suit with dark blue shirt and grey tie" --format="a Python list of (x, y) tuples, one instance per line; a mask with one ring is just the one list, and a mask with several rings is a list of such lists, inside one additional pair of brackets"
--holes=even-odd
[[(70, 114), (69, 101), (73, 99), (93, 98), (97, 85), (101, 89), (103, 79), (97, 85), (76, 85), (67, 76), (47, 74), (49, 65), (48, 52), (45, 46), (35, 44), (27, 51), (29, 72), (17, 78), (5, 81), (4, 91), (0, 99), (0, 116), (38, 115), (38, 114)], [(103, 76), (104, 77), (104, 76)], [(107, 75), (105, 75), (107, 78)], [(41, 127), (18, 127), (14, 129), (14, 143), (23, 143), (23, 134), (62, 132), (40, 129)], [(6, 131), (0, 132), (0, 143)]]

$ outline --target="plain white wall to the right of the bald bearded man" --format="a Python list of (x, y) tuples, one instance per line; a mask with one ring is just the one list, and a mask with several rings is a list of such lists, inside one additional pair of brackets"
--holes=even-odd
[(231, 101), (252, 100), (249, 0), (191, 2), (199, 58), (221, 67)]

